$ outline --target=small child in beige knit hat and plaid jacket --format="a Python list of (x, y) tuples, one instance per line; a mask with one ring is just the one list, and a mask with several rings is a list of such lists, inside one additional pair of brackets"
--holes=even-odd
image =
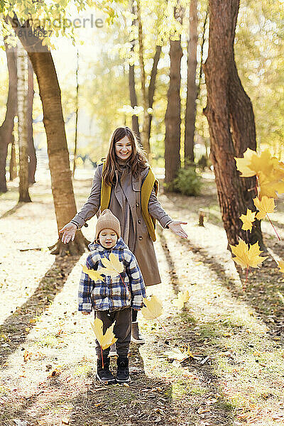
[[(102, 383), (129, 382), (129, 344), (131, 340), (131, 309), (140, 310), (143, 297), (146, 297), (145, 285), (135, 256), (121, 239), (119, 219), (105, 209), (99, 216), (94, 243), (89, 244), (92, 253), (87, 257), (88, 269), (99, 270), (104, 275), (102, 258), (116, 254), (124, 264), (124, 272), (111, 278), (105, 275), (104, 280), (94, 282), (89, 275), (82, 272), (79, 288), (79, 310), (88, 315), (92, 309), (103, 322), (103, 332), (113, 324), (117, 338), (116, 378), (109, 371), (109, 348), (102, 352), (97, 344), (97, 378)], [(102, 362), (103, 361), (103, 362)]]

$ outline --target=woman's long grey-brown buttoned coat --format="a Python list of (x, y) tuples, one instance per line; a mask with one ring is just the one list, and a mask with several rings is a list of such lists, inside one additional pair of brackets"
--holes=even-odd
[[(158, 262), (153, 241), (141, 214), (141, 186), (147, 174), (148, 168), (136, 179), (127, 165), (121, 171), (116, 170), (116, 185), (111, 187), (109, 209), (119, 219), (121, 236), (136, 256), (145, 284), (154, 285), (160, 283)], [(83, 226), (99, 211), (101, 186), (102, 165), (98, 165), (89, 198), (71, 222)], [(148, 212), (163, 228), (168, 228), (168, 224), (173, 222), (158, 202), (154, 190), (148, 202)]]

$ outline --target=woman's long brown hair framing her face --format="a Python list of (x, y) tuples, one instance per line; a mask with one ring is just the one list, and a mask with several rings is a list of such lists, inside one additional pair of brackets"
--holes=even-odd
[(131, 155), (127, 158), (127, 163), (131, 168), (131, 173), (138, 178), (141, 171), (147, 166), (146, 153), (143, 148), (139, 146), (133, 131), (129, 127), (118, 127), (112, 133), (111, 141), (109, 144), (109, 152), (107, 153), (106, 166), (104, 168), (103, 178), (107, 185), (114, 185), (115, 170), (119, 169), (118, 158), (115, 153), (115, 143), (120, 141), (124, 136), (129, 138), (131, 142)]

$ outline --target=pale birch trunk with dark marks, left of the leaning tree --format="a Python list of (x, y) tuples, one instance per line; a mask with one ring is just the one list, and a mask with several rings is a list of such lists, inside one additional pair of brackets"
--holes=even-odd
[(28, 55), (21, 43), (17, 50), (17, 114), (18, 114), (18, 158), (19, 158), (19, 202), (31, 202), (28, 193)]

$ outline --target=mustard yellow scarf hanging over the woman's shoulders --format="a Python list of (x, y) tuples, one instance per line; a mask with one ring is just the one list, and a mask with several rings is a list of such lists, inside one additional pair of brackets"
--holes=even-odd
[[(104, 172), (105, 166), (106, 166), (106, 163), (104, 161), (104, 165), (102, 168), (103, 172)], [(155, 241), (156, 240), (155, 219), (148, 212), (148, 202), (149, 202), (152, 188), (154, 188), (155, 195), (157, 195), (158, 189), (159, 189), (159, 182), (157, 179), (155, 179), (154, 173), (151, 167), (149, 167), (148, 175), (146, 176), (141, 187), (141, 212), (142, 212), (143, 219), (145, 220), (145, 223), (147, 225), (151, 239)], [(104, 211), (104, 209), (107, 209), (109, 207), (110, 199), (111, 199), (111, 185), (106, 185), (104, 182), (104, 178), (102, 178), (102, 188), (101, 188), (101, 211), (102, 212)]]

